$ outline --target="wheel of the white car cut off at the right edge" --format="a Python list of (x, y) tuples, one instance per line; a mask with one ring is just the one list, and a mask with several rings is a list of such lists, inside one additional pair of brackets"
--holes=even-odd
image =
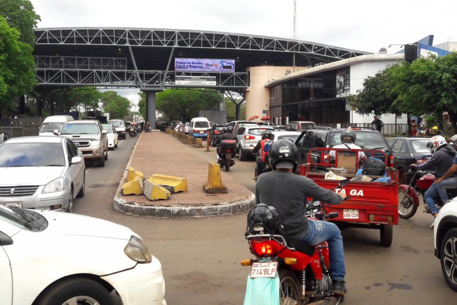
[(457, 228), (447, 231), (441, 240), (441, 270), (447, 285), (457, 291)]

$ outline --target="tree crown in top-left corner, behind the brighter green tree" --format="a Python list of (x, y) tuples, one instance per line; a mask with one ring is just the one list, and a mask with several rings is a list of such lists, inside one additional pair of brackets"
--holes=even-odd
[(20, 41), (33, 47), (35, 45), (34, 28), (40, 16), (28, 0), (0, 0), (0, 16), (5, 17), (10, 27), (20, 33)]

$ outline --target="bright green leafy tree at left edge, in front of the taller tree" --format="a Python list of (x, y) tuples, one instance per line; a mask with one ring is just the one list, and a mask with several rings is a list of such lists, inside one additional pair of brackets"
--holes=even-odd
[(37, 84), (32, 48), (19, 41), (19, 32), (0, 17), (0, 109), (14, 109), (14, 99)]

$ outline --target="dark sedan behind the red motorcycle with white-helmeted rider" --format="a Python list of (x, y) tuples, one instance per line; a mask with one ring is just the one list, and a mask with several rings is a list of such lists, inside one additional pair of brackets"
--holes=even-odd
[(394, 154), (394, 167), (398, 169), (400, 184), (409, 184), (411, 177), (406, 173), (410, 164), (424, 162), (432, 157), (430, 148), (427, 147), (429, 140), (426, 137), (399, 137), (387, 141)]

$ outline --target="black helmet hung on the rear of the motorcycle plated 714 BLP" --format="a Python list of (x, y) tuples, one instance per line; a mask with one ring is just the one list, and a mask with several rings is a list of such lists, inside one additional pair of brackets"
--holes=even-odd
[(276, 208), (259, 203), (248, 213), (246, 236), (251, 234), (283, 234), (284, 225)]

